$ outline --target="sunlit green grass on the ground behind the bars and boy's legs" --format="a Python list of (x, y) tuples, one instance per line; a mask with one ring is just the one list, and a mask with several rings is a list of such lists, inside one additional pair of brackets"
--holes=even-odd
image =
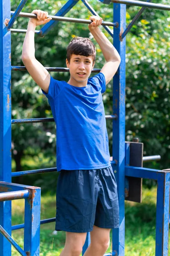
[[(155, 255), (156, 187), (143, 189), (142, 204), (126, 201), (125, 256)], [(41, 199), (41, 219), (55, 217), (55, 195)], [(12, 201), (12, 224), (24, 221), (24, 200)], [(65, 244), (65, 232), (53, 234), (55, 223), (41, 225), (40, 256), (59, 256)], [(23, 230), (15, 230), (12, 237), (23, 247)], [(111, 245), (108, 249), (111, 252)], [(12, 256), (20, 254), (12, 247)]]

